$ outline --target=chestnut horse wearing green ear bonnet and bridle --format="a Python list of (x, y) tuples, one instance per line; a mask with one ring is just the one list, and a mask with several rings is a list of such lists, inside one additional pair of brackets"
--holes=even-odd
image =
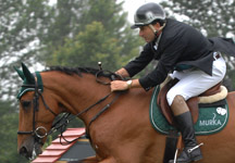
[[(106, 73), (95, 75), (91, 68), (57, 67), (34, 76), (23, 64), (23, 71), (17, 73), (24, 79), (18, 95), (21, 154), (26, 158), (39, 154), (54, 117), (69, 112), (78, 115), (88, 129), (96, 151), (88, 163), (163, 162), (165, 135), (156, 131), (149, 121), (152, 90), (111, 93), (110, 77)], [(235, 162), (235, 92), (230, 92), (226, 100), (230, 106), (226, 127), (197, 137), (205, 143), (200, 163)]]

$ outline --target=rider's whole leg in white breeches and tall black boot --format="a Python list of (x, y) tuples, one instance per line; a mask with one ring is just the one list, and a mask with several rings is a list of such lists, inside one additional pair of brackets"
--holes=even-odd
[(177, 162), (187, 163), (202, 158), (199, 148), (196, 148), (190, 154), (187, 154), (187, 148), (197, 146), (197, 141), (195, 139), (191, 114), (185, 101), (217, 85), (223, 79), (225, 72), (225, 61), (223, 58), (220, 58), (213, 62), (212, 75), (208, 75), (199, 70), (175, 72), (172, 75), (173, 78), (176, 77), (180, 82), (171, 88), (166, 95), (166, 99), (175, 115), (185, 142), (185, 150)]

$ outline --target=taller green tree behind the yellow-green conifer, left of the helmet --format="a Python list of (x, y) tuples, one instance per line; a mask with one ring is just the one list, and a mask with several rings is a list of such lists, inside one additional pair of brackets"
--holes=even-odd
[(107, 34), (118, 40), (123, 65), (139, 53), (139, 46), (143, 42), (129, 28), (126, 21), (127, 13), (123, 12), (122, 5), (123, 1), (118, 3), (116, 0), (88, 0), (90, 8), (87, 8), (83, 14), (83, 24), (90, 24), (96, 21), (103, 25)]

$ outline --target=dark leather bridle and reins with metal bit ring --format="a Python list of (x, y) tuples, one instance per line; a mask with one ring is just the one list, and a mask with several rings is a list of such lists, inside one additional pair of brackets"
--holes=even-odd
[[(101, 73), (103, 73), (102, 70), (99, 71), (99, 72), (97, 72), (97, 74), (96, 74), (96, 80), (97, 80), (97, 83), (100, 83), (100, 84), (102, 84), (102, 85), (110, 85), (109, 83), (103, 83), (103, 82), (101, 82), (101, 80), (98, 79), (98, 78), (99, 78), (99, 75), (100, 75)], [(111, 75), (111, 76), (112, 76), (111, 79), (114, 79), (114, 77), (122, 78), (121, 76), (119, 76), (119, 75), (116, 75), (116, 74), (114, 74), (114, 73), (111, 73), (111, 74), (112, 74), (112, 75)], [(123, 78), (122, 78), (122, 79), (123, 79)], [(57, 121), (57, 122), (52, 125), (51, 129), (48, 131), (47, 128), (44, 127), (44, 126), (36, 127), (36, 113), (39, 111), (39, 98), (41, 98), (41, 101), (42, 101), (45, 108), (46, 108), (48, 111), (50, 111), (54, 116), (58, 116), (58, 114), (54, 113), (54, 112), (49, 108), (49, 105), (46, 103), (46, 101), (45, 101), (45, 99), (44, 99), (44, 96), (42, 96), (41, 91), (40, 91), (39, 88), (38, 88), (37, 75), (35, 75), (35, 85), (32, 85), (32, 84), (30, 84), (30, 85), (29, 85), (29, 84), (24, 84), (24, 85), (22, 85), (22, 87), (32, 88), (32, 89), (34, 89), (34, 92), (35, 92), (35, 93), (34, 93), (34, 99), (33, 99), (33, 109), (34, 109), (34, 110), (33, 110), (33, 129), (32, 129), (30, 131), (18, 130), (17, 134), (18, 134), (18, 135), (32, 135), (32, 136), (35, 138), (35, 140), (37, 140), (38, 142), (40, 142), (40, 140), (41, 140), (42, 138), (45, 138), (46, 136), (51, 135), (51, 134), (55, 133), (55, 131), (59, 130), (59, 129), (61, 130), (61, 137), (60, 137), (60, 142), (61, 142), (61, 143), (62, 143), (61, 138), (63, 138), (63, 139), (65, 140), (66, 143), (71, 143), (71, 142), (73, 142), (73, 141), (76, 141), (78, 138), (74, 139), (74, 140), (72, 140), (72, 141), (66, 140), (66, 139), (63, 137), (63, 131), (64, 131), (63, 128), (66, 127), (66, 125), (69, 124), (69, 122), (70, 122), (71, 120), (73, 120), (74, 117), (77, 117), (77, 116), (82, 115), (83, 113), (85, 113), (85, 112), (91, 110), (95, 105), (97, 105), (97, 104), (103, 102), (106, 99), (108, 99), (108, 98), (112, 95), (112, 92), (110, 92), (109, 95), (107, 95), (107, 96), (104, 96), (103, 98), (101, 98), (100, 100), (98, 100), (96, 103), (91, 104), (90, 106), (86, 108), (86, 109), (83, 110), (82, 112), (77, 113), (77, 114), (76, 114), (75, 116), (73, 116), (72, 118), (69, 118), (69, 116), (70, 116), (71, 113), (64, 114), (59, 121)], [(86, 128), (86, 137), (87, 137), (87, 138), (90, 139), (90, 136), (89, 136), (89, 127), (90, 127), (91, 123), (95, 122), (104, 111), (107, 111), (107, 110), (111, 106), (111, 104), (119, 98), (119, 96), (120, 96), (121, 93), (122, 93), (121, 91), (118, 92), (118, 93), (115, 93), (115, 97), (112, 99), (112, 101), (111, 101), (110, 103), (108, 103), (104, 108), (102, 108), (102, 109), (91, 118), (91, 121), (89, 122), (89, 124), (88, 124), (88, 126), (87, 126), (87, 128)], [(63, 118), (65, 118), (65, 121), (63, 121), (63, 123), (61, 123)], [(40, 130), (41, 130), (41, 129), (42, 129), (44, 133), (45, 133), (44, 135), (40, 134)], [(41, 143), (42, 143), (42, 142), (41, 142)]]

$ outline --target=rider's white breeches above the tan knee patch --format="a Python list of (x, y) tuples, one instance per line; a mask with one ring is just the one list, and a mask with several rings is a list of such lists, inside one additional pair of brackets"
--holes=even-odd
[(172, 87), (166, 95), (169, 105), (172, 104), (175, 96), (177, 95), (184, 97), (186, 101), (191, 97), (196, 97), (205, 92), (209, 88), (220, 83), (224, 78), (225, 73), (226, 64), (222, 57), (213, 61), (212, 76), (195, 68), (183, 72), (174, 71), (173, 74), (170, 74), (170, 76), (172, 78), (180, 79), (180, 82), (174, 87)]

